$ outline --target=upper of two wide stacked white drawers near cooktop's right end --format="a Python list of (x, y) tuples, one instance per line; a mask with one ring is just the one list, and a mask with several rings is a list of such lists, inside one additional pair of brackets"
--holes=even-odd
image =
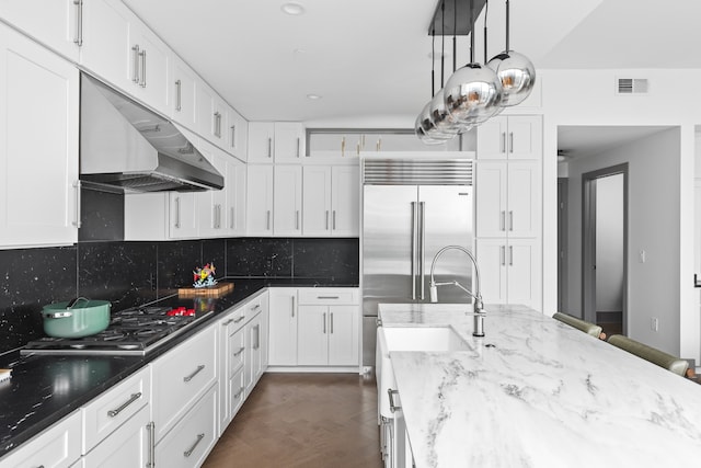
[(151, 365), (157, 441), (217, 380), (217, 331), (207, 328)]

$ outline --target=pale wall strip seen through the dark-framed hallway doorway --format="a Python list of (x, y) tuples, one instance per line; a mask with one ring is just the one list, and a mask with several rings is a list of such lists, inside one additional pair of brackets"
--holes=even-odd
[(623, 174), (596, 180), (596, 311), (623, 310)]

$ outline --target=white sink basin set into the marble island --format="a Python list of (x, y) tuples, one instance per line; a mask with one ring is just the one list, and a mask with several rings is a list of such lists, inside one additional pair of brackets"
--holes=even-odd
[(383, 327), (383, 333), (388, 352), (472, 350), (450, 327)]

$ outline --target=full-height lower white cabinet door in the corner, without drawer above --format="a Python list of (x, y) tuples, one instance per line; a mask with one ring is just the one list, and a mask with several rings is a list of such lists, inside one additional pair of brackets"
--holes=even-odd
[(268, 364), (297, 365), (297, 289), (273, 288), (269, 292)]

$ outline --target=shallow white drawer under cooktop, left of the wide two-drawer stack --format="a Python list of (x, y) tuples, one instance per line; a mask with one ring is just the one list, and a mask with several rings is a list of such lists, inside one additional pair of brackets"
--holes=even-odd
[(83, 455), (148, 404), (151, 376), (143, 368), (81, 409)]

